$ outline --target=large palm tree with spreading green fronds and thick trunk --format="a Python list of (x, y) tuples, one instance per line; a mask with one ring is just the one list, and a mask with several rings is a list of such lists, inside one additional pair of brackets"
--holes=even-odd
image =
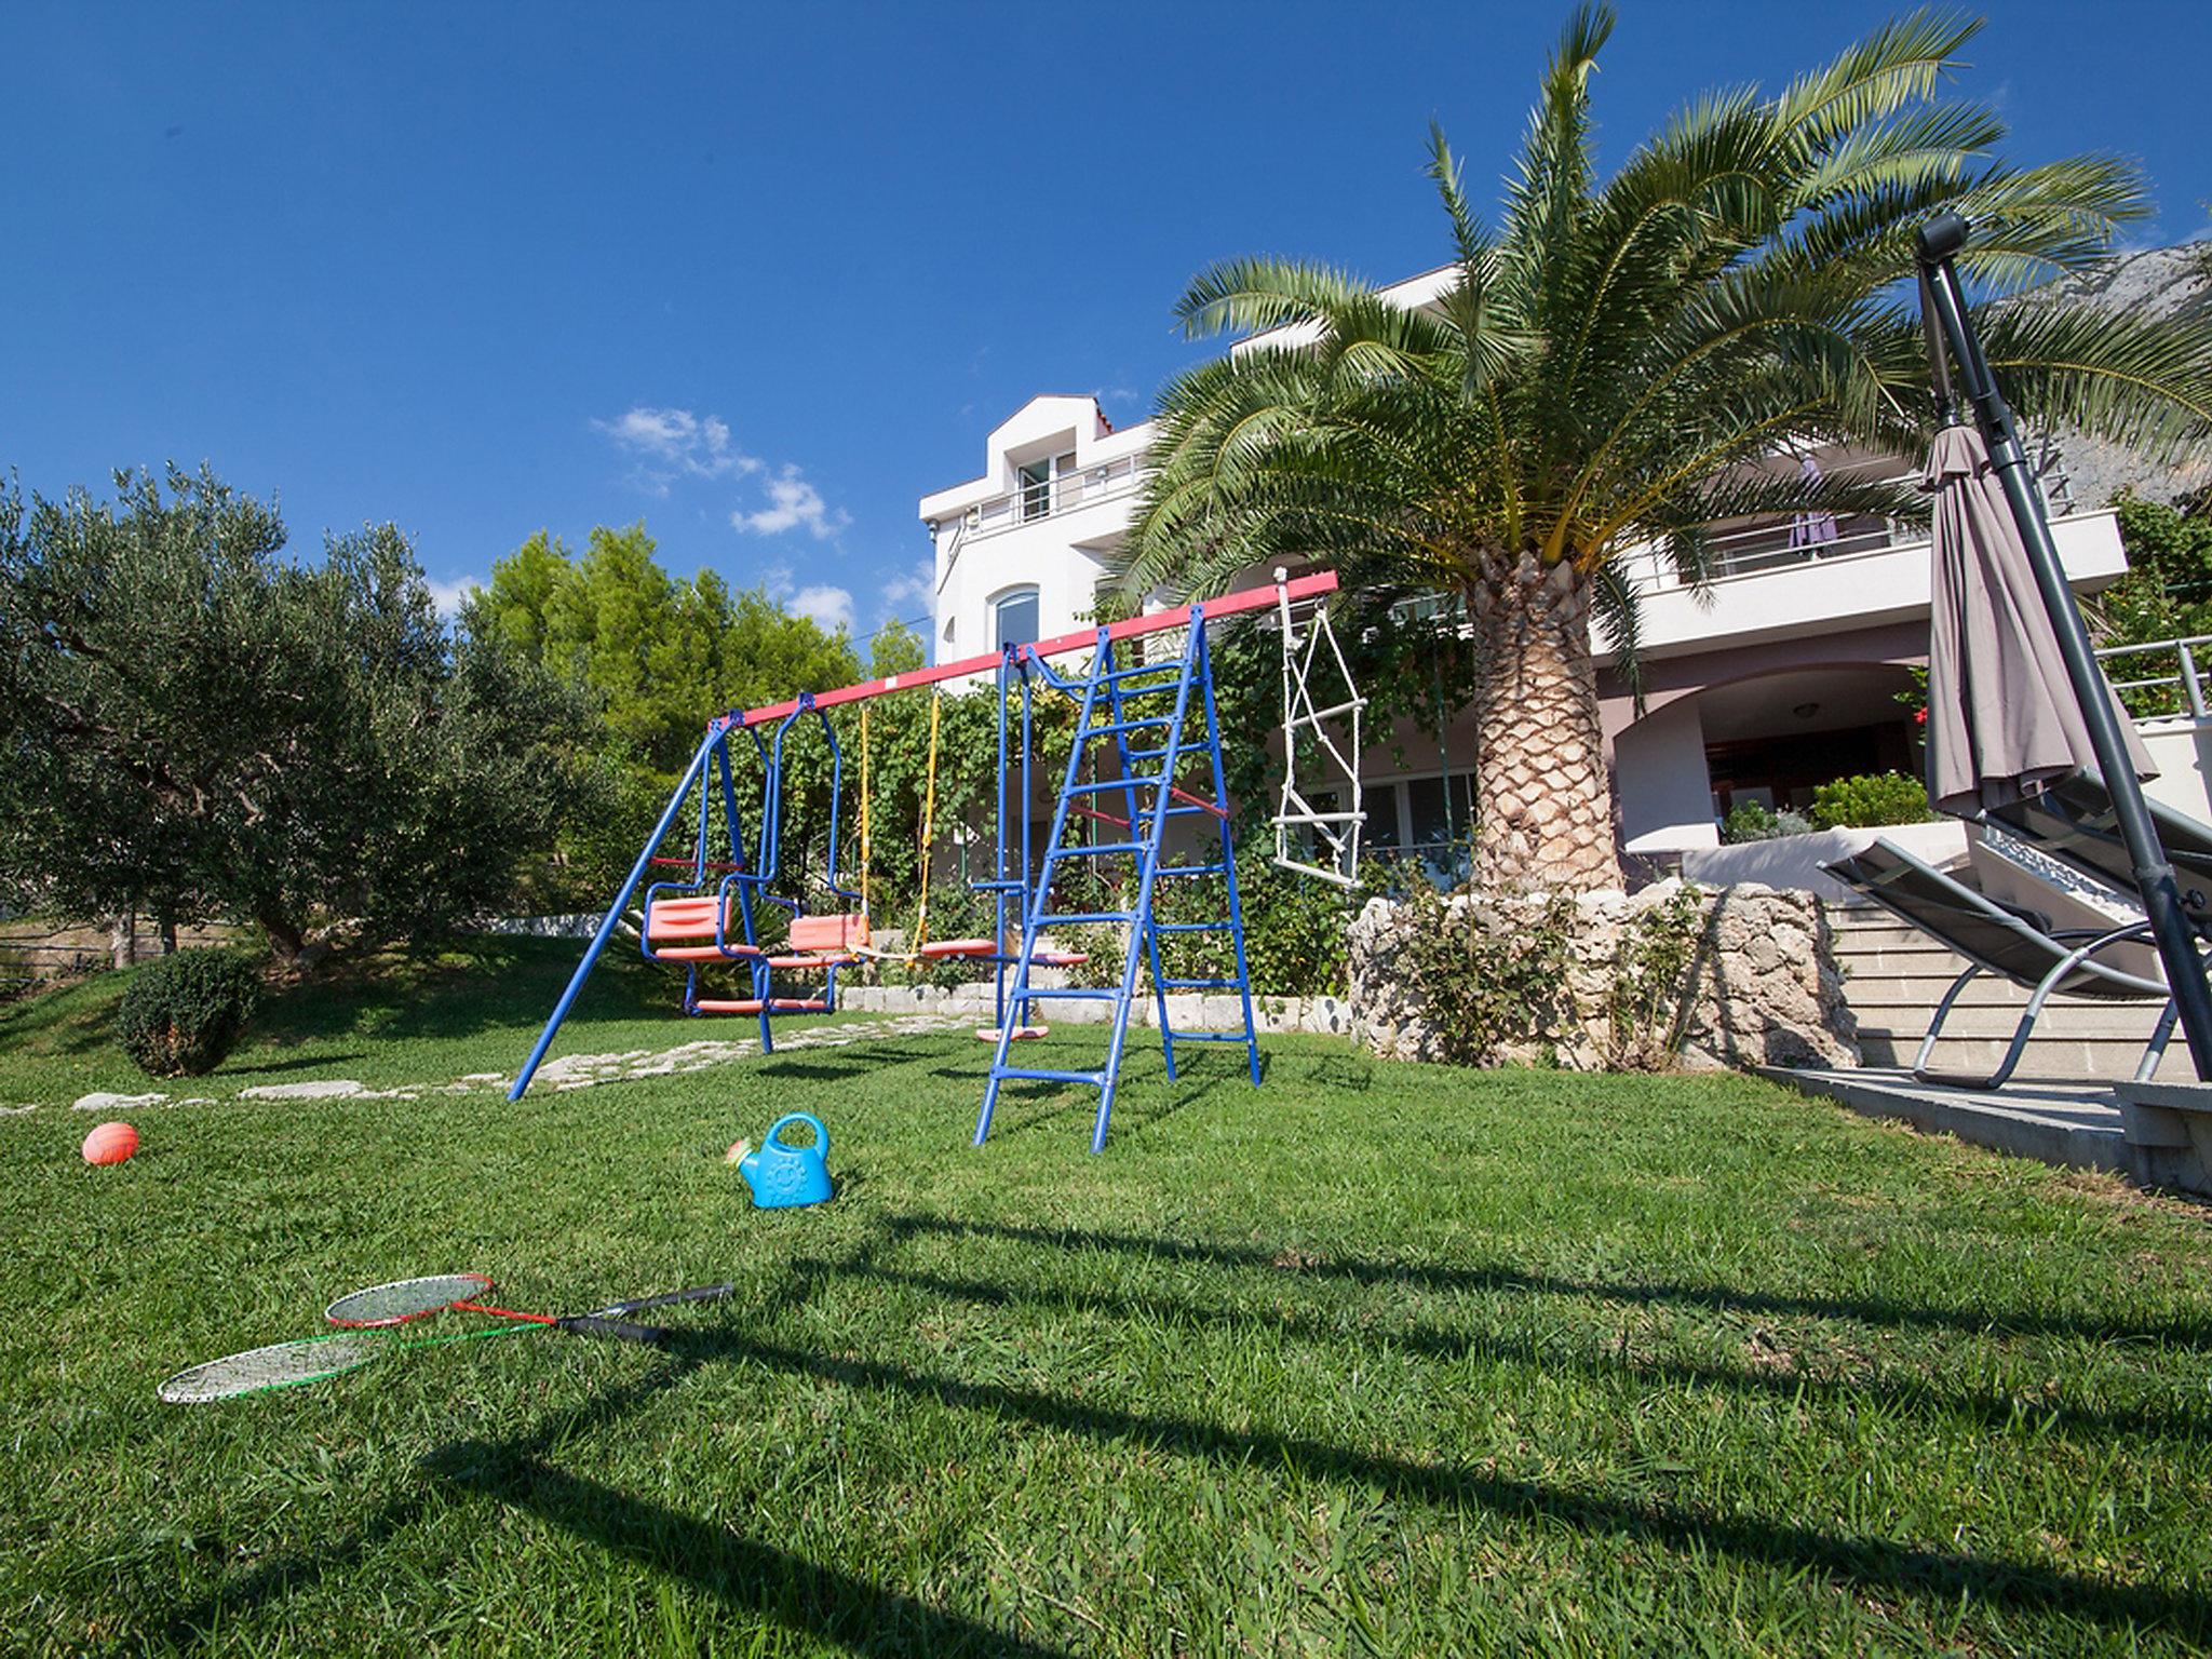
[(1431, 128), (1449, 285), (1391, 303), (1340, 272), (1234, 259), (1190, 336), (1285, 330), (1175, 380), (1121, 591), (1223, 591), (1283, 557), (1464, 597), (1480, 653), (1478, 876), (1619, 885), (1590, 628), (1637, 684), (1624, 553), (1710, 577), (1703, 526), (1747, 513), (1924, 513), (1911, 491), (1761, 467), (1801, 442), (1918, 453), (1933, 420), (1911, 232), (1960, 261), (2022, 414), (2130, 442), (2212, 429), (2212, 332), (2042, 301), (2031, 283), (2146, 217), (2106, 157), (2011, 168), (2004, 126), (1940, 95), (1978, 22), (1913, 13), (1785, 86), (1710, 93), (1604, 184), (1588, 80), (1613, 13), (1568, 22), (1498, 230)]

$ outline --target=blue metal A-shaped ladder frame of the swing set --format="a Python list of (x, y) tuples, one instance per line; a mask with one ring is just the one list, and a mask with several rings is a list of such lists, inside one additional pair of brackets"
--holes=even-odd
[[(1115, 661), (1115, 641), (1108, 628), (1099, 628), (1097, 648), (1091, 655), (1091, 672), (1082, 679), (1062, 679), (1042, 661), (1044, 677), (1068, 695), (1082, 699), (1075, 721), (1075, 741), (1068, 745), (1068, 770), (1053, 805), (1053, 830), (1044, 843), (1044, 863), (1037, 869), (1035, 887), (1022, 909), (1022, 949), (1013, 964), (1013, 987), (1006, 995), (1011, 1018), (1002, 1018), (998, 1051), (991, 1057), (991, 1082), (984, 1084), (982, 1113), (975, 1117), (975, 1146), (991, 1135), (991, 1115), (998, 1108), (998, 1091), (1009, 1079), (1035, 1079), (1060, 1084), (1088, 1084), (1099, 1091), (1097, 1124), (1091, 1130), (1091, 1150), (1106, 1148), (1106, 1126), (1113, 1119), (1115, 1079), (1121, 1073), (1121, 1048), (1128, 1040), (1128, 1013), (1137, 998), (1139, 962), (1150, 969), (1155, 1018), (1159, 1022), (1159, 1046), (1168, 1062), (1168, 1077), (1175, 1077), (1175, 1044), (1179, 1042), (1241, 1042), (1250, 1062), (1252, 1082), (1259, 1084), (1259, 1035), (1252, 1022), (1252, 975), (1245, 967), (1243, 949), (1243, 905), (1237, 894), (1237, 856), (1230, 841), (1230, 821), (1223, 810), (1228, 781), (1221, 768), (1221, 723), (1214, 710), (1212, 657), (1206, 648), (1203, 606), (1190, 608), (1190, 637), (1183, 655), (1161, 661)], [(1197, 710), (1192, 710), (1197, 692)], [(1172, 699), (1172, 701), (1170, 701)], [(1197, 717), (1201, 732), (1186, 726)], [(1130, 737), (1139, 734), (1139, 748)], [(1084, 757), (1095, 743), (1113, 743), (1117, 776), (1084, 783)], [(1199, 799), (1177, 785), (1179, 765), (1206, 754), (1210, 765), (1212, 799)], [(1093, 841), (1066, 845), (1068, 814), (1104, 818), (1088, 803), (1097, 796), (1119, 794), (1126, 818), (1119, 823), (1119, 841)], [(1214, 858), (1190, 865), (1161, 860), (1168, 823), (1172, 818), (1212, 816), (1221, 845)], [(1062, 865), (1082, 860), (1106, 860), (1128, 856), (1137, 860), (1135, 909), (1075, 909), (1053, 911), (1053, 874)], [(1095, 867), (1095, 865), (1093, 865)], [(1152, 896), (1161, 878), (1223, 876), (1228, 885), (1230, 914), (1208, 922), (1159, 922), (1152, 916)], [(1053, 925), (1073, 922), (1121, 922), (1128, 927), (1128, 951), (1121, 960), (1121, 982), (1115, 989), (1051, 989), (1031, 984), (1037, 953), (1037, 936)], [(1161, 962), (1161, 933), (1230, 933), (1237, 958), (1234, 978), (1170, 978)], [(1230, 1031), (1175, 1031), (1168, 1024), (1170, 991), (1230, 991), (1243, 1004), (1243, 1035)], [(1113, 1026), (1106, 1040), (1106, 1060), (1097, 1071), (1071, 1071), (1051, 1066), (1009, 1066), (1006, 1055), (1013, 1033), (1029, 1022), (1033, 1002), (1113, 1002)]]

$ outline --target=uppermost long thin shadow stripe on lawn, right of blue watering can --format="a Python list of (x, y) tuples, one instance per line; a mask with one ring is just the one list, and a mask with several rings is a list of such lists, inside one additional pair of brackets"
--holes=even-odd
[[(891, 1214), (885, 1225), (894, 1234), (960, 1234), (1000, 1239), (1053, 1250), (1108, 1250), (1159, 1261), (1188, 1261), (1210, 1267), (1274, 1267), (1279, 1250), (1267, 1245), (1201, 1243), (1190, 1239), (1155, 1239), (1133, 1232), (1095, 1232), (1084, 1228), (1022, 1228), (1004, 1221), (953, 1221), (933, 1214)], [(1739, 1314), (1812, 1314), (1818, 1318), (1856, 1318), (1867, 1325), (1909, 1325), (1997, 1336), (2079, 1336), (2099, 1343), (2172, 1343), (2177, 1347), (2212, 1349), (2212, 1325), (2205, 1321), (2168, 1321), (2163, 1325), (2128, 1325), (2112, 1318), (2079, 1318), (2024, 1310), (1920, 1307), (1874, 1296), (1783, 1296), (1765, 1290), (1690, 1283), (1613, 1283), (1604, 1279), (1559, 1279), (1520, 1267), (1442, 1267), (1420, 1261), (1363, 1261), (1358, 1256), (1307, 1256), (1298, 1272), (1316, 1279), (1343, 1279), (1358, 1285), (1420, 1285), (1422, 1290), (1515, 1290), (1533, 1296), (1595, 1296), (1619, 1303), (1681, 1303)]]

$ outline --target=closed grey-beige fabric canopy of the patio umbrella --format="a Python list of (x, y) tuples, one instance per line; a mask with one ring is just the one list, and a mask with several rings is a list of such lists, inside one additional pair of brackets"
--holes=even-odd
[[(1982, 434), (1938, 431), (1920, 482), (1936, 495), (1929, 801), (1971, 818), (2068, 772), (2095, 772), (2097, 754)], [(2117, 699), (2112, 708), (2135, 774), (2154, 779), (2135, 723)]]

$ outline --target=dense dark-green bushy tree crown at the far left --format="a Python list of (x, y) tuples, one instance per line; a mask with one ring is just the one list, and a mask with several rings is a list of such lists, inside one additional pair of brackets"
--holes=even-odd
[(73, 914), (434, 933), (504, 900), (580, 708), (447, 635), (387, 526), (288, 562), (212, 473), (0, 500), (0, 880)]

